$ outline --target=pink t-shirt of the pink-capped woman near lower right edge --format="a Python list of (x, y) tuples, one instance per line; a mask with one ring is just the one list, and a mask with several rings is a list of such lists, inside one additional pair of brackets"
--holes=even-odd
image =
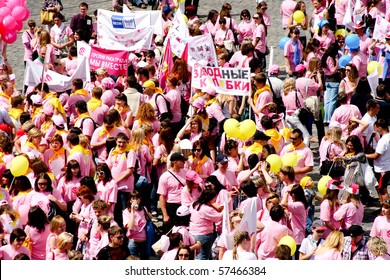
[(359, 207), (356, 208), (352, 202), (349, 202), (341, 205), (333, 214), (333, 218), (337, 221), (342, 221), (341, 228), (346, 230), (352, 225), (361, 225), (363, 215), (364, 207), (362, 203), (359, 203)]

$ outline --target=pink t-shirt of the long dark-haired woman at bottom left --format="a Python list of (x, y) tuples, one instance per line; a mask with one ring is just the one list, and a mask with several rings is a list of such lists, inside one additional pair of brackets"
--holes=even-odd
[(38, 232), (38, 229), (27, 225), (24, 229), (27, 237), (30, 238), (32, 251), (32, 260), (45, 260), (46, 259), (46, 240), (50, 234), (50, 225), (46, 224), (45, 229), (42, 232)]

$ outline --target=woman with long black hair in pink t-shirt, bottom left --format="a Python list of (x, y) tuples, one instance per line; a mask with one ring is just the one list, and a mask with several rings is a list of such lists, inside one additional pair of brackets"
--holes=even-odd
[(31, 259), (46, 259), (46, 240), (50, 234), (49, 220), (39, 206), (33, 206), (28, 212), (27, 225), (24, 228), (27, 238), (30, 238)]

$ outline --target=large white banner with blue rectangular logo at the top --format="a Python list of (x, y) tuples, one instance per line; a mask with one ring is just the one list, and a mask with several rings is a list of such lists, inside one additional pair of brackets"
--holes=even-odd
[(146, 14), (122, 14), (98, 10), (99, 46), (109, 50), (148, 50), (152, 44), (153, 30)]

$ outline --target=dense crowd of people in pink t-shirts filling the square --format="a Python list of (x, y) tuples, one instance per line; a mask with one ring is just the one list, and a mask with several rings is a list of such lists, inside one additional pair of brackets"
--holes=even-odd
[[(121, 12), (122, 2), (131, 7), (113, 1), (113, 10)], [(164, 35), (129, 53), (127, 76), (99, 68), (68, 91), (39, 83), (21, 94), (3, 46), (0, 259), (390, 259), (390, 33), (372, 39), (375, 18), (389, 19), (386, 2), (361, 1), (367, 13), (349, 30), (348, 1), (283, 1), (284, 79), (281, 66), (266, 65), (267, 28), (279, 22), (265, 1), (243, 9), (240, 22), (230, 3), (206, 21), (186, 3), (191, 36), (212, 35), (218, 66), (250, 68), (249, 97), (192, 87), (191, 67), (177, 57), (160, 84), (163, 42), (179, 8), (171, 2), (159, 2)], [(68, 26), (61, 1), (44, 1), (53, 24), (28, 21), (25, 66), (72, 75), (78, 42), (99, 41), (88, 4), (79, 9)], [(299, 23), (296, 11), (304, 15)], [(359, 48), (344, 47), (346, 30), (359, 36)], [(351, 60), (340, 65), (345, 55)], [(376, 60), (383, 73), (372, 92), (367, 65)], [(224, 123), (232, 118), (252, 119), (253, 136), (228, 136)], [(28, 160), (22, 176), (12, 171), (17, 157)], [(270, 158), (286, 160), (277, 167)], [(317, 168), (332, 175), (318, 187)], [(255, 232), (243, 228), (252, 204)], [(366, 232), (364, 209), (379, 204)], [(160, 230), (165, 246), (152, 250)], [(279, 244), (287, 235), (295, 246)]]

